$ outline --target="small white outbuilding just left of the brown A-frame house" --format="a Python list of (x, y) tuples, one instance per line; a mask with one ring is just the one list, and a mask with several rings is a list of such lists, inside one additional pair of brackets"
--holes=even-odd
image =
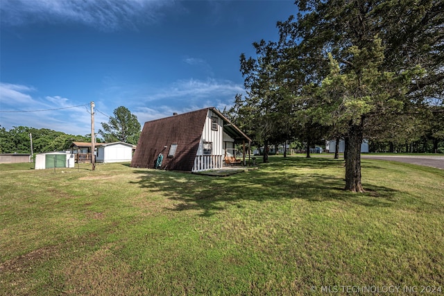
[(130, 162), (134, 145), (124, 142), (97, 143), (96, 162)]

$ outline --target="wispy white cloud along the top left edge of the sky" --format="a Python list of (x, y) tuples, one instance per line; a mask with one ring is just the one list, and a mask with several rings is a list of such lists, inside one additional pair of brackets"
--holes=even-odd
[(114, 30), (156, 22), (162, 16), (160, 8), (171, 3), (173, 0), (2, 0), (0, 10), (1, 22), (14, 26), (70, 21)]

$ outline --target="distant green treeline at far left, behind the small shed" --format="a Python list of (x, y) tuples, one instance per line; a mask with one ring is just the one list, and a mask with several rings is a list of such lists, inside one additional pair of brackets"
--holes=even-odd
[(91, 136), (80, 136), (56, 132), (47, 128), (14, 127), (10, 130), (0, 128), (0, 153), (31, 153), (31, 137), (33, 138), (33, 152), (67, 150), (73, 141), (89, 142)]

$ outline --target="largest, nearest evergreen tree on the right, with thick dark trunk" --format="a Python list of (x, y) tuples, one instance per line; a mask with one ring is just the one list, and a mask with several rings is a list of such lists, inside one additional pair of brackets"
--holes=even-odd
[[(345, 127), (345, 189), (361, 185), (360, 147), (372, 117), (409, 114), (443, 97), (442, 0), (296, 1), (278, 23), (287, 80), (298, 61), (299, 104), (319, 123)], [(297, 71), (297, 70), (295, 70)], [(285, 80), (285, 79), (284, 79)]]

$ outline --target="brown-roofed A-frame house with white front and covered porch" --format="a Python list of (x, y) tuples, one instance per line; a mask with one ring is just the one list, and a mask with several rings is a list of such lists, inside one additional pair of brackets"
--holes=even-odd
[(235, 143), (245, 147), (250, 141), (214, 107), (175, 114), (144, 124), (131, 166), (190, 172), (221, 168), (233, 159)]

